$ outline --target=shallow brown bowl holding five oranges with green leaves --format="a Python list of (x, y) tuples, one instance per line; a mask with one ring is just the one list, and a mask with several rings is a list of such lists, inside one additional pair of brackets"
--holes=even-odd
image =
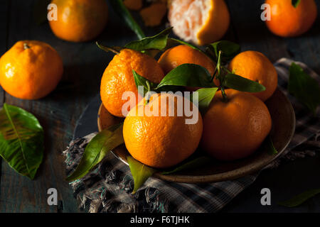
[(229, 41), (203, 50), (168, 35), (156, 54), (142, 46), (114, 50), (102, 75), (97, 124), (121, 125), (119, 160), (133, 158), (159, 179), (203, 183), (250, 175), (284, 152), (294, 110), (261, 52)]

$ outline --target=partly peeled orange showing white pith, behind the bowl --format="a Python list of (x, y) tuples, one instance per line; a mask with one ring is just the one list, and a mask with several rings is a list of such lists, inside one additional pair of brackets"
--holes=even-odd
[(213, 43), (229, 28), (230, 13), (223, 0), (171, 0), (168, 4), (174, 33), (187, 42)]

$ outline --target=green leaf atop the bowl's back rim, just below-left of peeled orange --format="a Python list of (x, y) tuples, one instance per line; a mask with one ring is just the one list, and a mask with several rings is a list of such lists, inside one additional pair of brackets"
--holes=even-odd
[(164, 48), (166, 48), (168, 35), (171, 31), (172, 28), (166, 28), (164, 31), (161, 31), (161, 33), (157, 35), (127, 43), (126, 45), (124, 45), (124, 48), (129, 48), (137, 51), (164, 50)]

